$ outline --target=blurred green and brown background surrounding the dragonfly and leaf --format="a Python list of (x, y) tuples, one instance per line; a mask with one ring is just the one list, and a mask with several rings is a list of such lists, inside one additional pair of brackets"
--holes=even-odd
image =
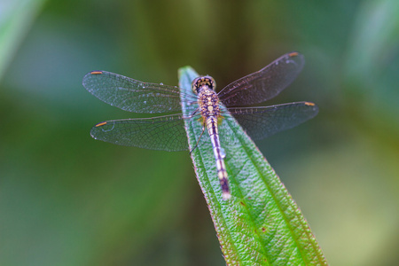
[(307, 64), (268, 104), (320, 113), (258, 143), (332, 265), (398, 265), (399, 2), (0, 1), (0, 265), (224, 265), (189, 153), (95, 141), (138, 117), (90, 70), (219, 89), (288, 51)]

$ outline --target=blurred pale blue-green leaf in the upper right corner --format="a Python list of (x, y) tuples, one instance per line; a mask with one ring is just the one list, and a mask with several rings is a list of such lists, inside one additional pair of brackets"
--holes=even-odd
[(370, 82), (386, 71), (399, 43), (399, 2), (364, 2), (355, 16), (349, 40), (346, 74), (360, 82)]

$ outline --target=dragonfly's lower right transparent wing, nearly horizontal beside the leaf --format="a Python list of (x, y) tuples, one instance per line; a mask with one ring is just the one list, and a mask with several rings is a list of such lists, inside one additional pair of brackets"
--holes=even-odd
[(291, 129), (318, 113), (318, 107), (309, 102), (228, 110), (253, 139), (270, 137), (279, 131)]

